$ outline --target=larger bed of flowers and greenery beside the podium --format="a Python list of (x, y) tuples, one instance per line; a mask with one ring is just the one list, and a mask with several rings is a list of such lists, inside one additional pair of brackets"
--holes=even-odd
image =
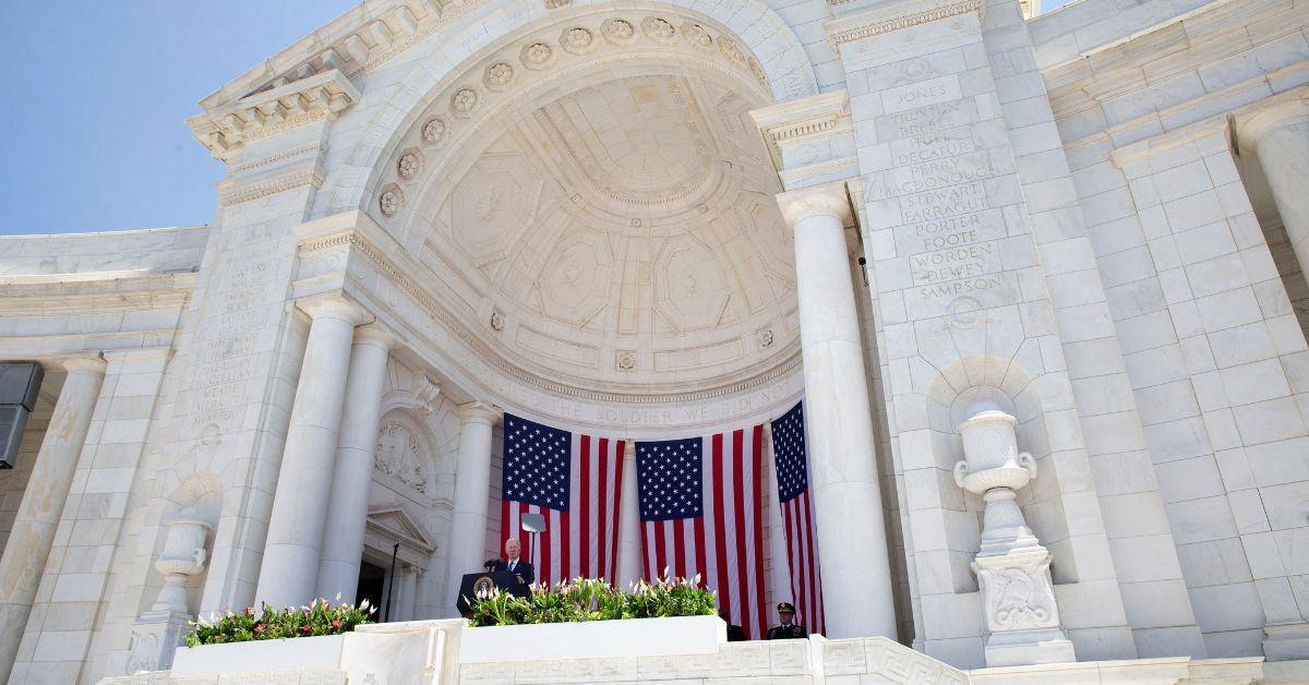
[(673, 616), (717, 616), (717, 597), (694, 579), (664, 578), (635, 583), (623, 592), (609, 582), (576, 578), (554, 587), (531, 587), (531, 597), (516, 597), (492, 589), (469, 602), (473, 626), (516, 626), (563, 623), (571, 621), (615, 621), (622, 618), (661, 618)]

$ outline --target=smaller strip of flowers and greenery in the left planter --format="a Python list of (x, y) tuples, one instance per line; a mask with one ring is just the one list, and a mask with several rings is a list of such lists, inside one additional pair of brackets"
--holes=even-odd
[[(336, 599), (340, 600), (340, 595)], [(262, 612), (246, 608), (241, 613), (213, 613), (208, 618), (192, 621), (195, 630), (186, 637), (186, 644), (195, 647), (257, 639), (340, 635), (355, 630), (360, 623), (370, 623), (369, 617), (376, 612), (377, 609), (368, 605), (368, 600), (359, 602), (359, 606), (351, 604), (331, 606), (327, 600), (314, 600), (309, 606), (298, 609), (291, 606), (274, 609), (264, 604)]]

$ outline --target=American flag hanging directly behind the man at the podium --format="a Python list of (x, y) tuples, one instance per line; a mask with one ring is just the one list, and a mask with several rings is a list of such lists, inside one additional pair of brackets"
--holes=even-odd
[[(504, 420), (500, 540), (517, 536), (537, 582), (615, 580), (623, 441), (551, 428), (512, 414)], [(541, 549), (522, 532), (524, 512), (546, 517)]]

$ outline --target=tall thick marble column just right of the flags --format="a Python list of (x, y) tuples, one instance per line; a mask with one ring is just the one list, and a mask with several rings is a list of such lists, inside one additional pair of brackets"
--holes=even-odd
[(829, 638), (895, 639), (863, 342), (850, 278), (844, 183), (778, 195), (795, 233), (810, 489)]

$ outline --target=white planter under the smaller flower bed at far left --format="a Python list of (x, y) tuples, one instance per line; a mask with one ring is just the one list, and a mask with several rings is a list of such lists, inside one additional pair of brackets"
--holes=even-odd
[(322, 635), (178, 647), (173, 655), (173, 676), (340, 668), (344, 642), (346, 635)]

